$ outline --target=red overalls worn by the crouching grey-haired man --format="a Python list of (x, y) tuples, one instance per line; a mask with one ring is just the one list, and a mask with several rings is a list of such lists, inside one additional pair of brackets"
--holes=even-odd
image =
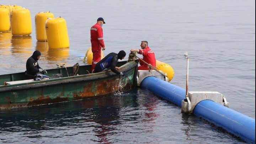
[[(152, 66), (156, 66), (156, 58), (155, 58), (155, 53), (153, 50), (151, 50), (149, 47), (146, 47), (145, 49), (140, 49), (139, 54), (143, 55), (143, 60), (151, 64)], [(149, 70), (149, 67), (147, 64), (145, 64), (142, 60), (139, 60), (140, 66), (138, 66), (138, 70)], [(151, 68), (151, 70), (153, 70)]]

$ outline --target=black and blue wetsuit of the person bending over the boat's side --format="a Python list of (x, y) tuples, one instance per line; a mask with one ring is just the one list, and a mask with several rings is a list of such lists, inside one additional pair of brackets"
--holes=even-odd
[(117, 62), (118, 62), (118, 54), (110, 53), (95, 65), (94, 73), (101, 72), (105, 68), (110, 67), (111, 71), (119, 75), (120, 72), (116, 69)]

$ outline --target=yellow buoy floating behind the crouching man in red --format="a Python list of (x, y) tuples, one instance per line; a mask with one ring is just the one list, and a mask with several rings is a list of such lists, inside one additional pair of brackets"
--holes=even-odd
[(159, 60), (156, 60), (156, 69), (161, 70), (164, 73), (166, 73), (169, 81), (171, 81), (172, 78), (174, 77), (174, 70), (172, 69), (172, 67), (169, 64), (166, 64), (166, 63), (160, 62)]

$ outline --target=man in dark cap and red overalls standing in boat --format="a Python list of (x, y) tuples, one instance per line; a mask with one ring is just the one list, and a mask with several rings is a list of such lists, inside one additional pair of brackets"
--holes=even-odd
[(91, 47), (92, 47), (92, 73), (97, 62), (101, 60), (101, 48), (105, 50), (105, 44), (103, 40), (103, 26), (104, 20), (102, 17), (97, 19), (97, 23), (91, 27)]

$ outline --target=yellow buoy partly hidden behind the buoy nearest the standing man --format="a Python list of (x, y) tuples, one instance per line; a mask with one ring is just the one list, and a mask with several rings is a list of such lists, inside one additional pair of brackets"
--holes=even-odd
[(36, 39), (39, 42), (47, 41), (46, 36), (46, 20), (48, 18), (54, 18), (51, 12), (38, 12), (35, 16), (35, 27), (36, 27)]

